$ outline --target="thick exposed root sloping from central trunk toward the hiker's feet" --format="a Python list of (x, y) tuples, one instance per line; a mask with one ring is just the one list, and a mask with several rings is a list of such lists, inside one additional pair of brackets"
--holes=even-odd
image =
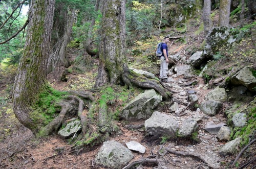
[(130, 70), (128, 66), (124, 66), (122, 80), (128, 86), (135, 85), (142, 88), (155, 89), (162, 95), (163, 100), (168, 100), (172, 96), (169, 91), (160, 85), (157, 79), (148, 79), (143, 75), (136, 74), (133, 70)]

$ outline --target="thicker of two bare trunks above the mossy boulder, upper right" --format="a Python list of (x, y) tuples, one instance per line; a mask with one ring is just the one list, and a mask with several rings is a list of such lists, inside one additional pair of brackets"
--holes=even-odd
[(229, 14), (230, 14), (231, 0), (220, 1), (220, 15), (219, 15), (219, 26), (229, 25)]

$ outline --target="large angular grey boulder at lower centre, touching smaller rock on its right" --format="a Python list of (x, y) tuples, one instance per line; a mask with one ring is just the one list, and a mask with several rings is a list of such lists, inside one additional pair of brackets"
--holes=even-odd
[(169, 115), (155, 111), (150, 118), (145, 120), (145, 129), (153, 136), (176, 137), (179, 123)]

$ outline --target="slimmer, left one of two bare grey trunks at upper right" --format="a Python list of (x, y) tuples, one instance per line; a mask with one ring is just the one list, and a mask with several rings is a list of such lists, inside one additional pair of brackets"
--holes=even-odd
[(204, 0), (204, 8), (203, 8), (204, 38), (207, 36), (212, 26), (211, 19), (210, 19), (210, 6), (211, 6), (211, 1)]

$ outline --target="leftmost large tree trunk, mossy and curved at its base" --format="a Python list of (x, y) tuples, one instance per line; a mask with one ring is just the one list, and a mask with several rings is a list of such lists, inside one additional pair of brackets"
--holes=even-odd
[(13, 110), (24, 126), (34, 130), (30, 116), (38, 93), (47, 85), (46, 68), (52, 34), (54, 0), (31, 1), (24, 54), (18, 65), (13, 90)]

